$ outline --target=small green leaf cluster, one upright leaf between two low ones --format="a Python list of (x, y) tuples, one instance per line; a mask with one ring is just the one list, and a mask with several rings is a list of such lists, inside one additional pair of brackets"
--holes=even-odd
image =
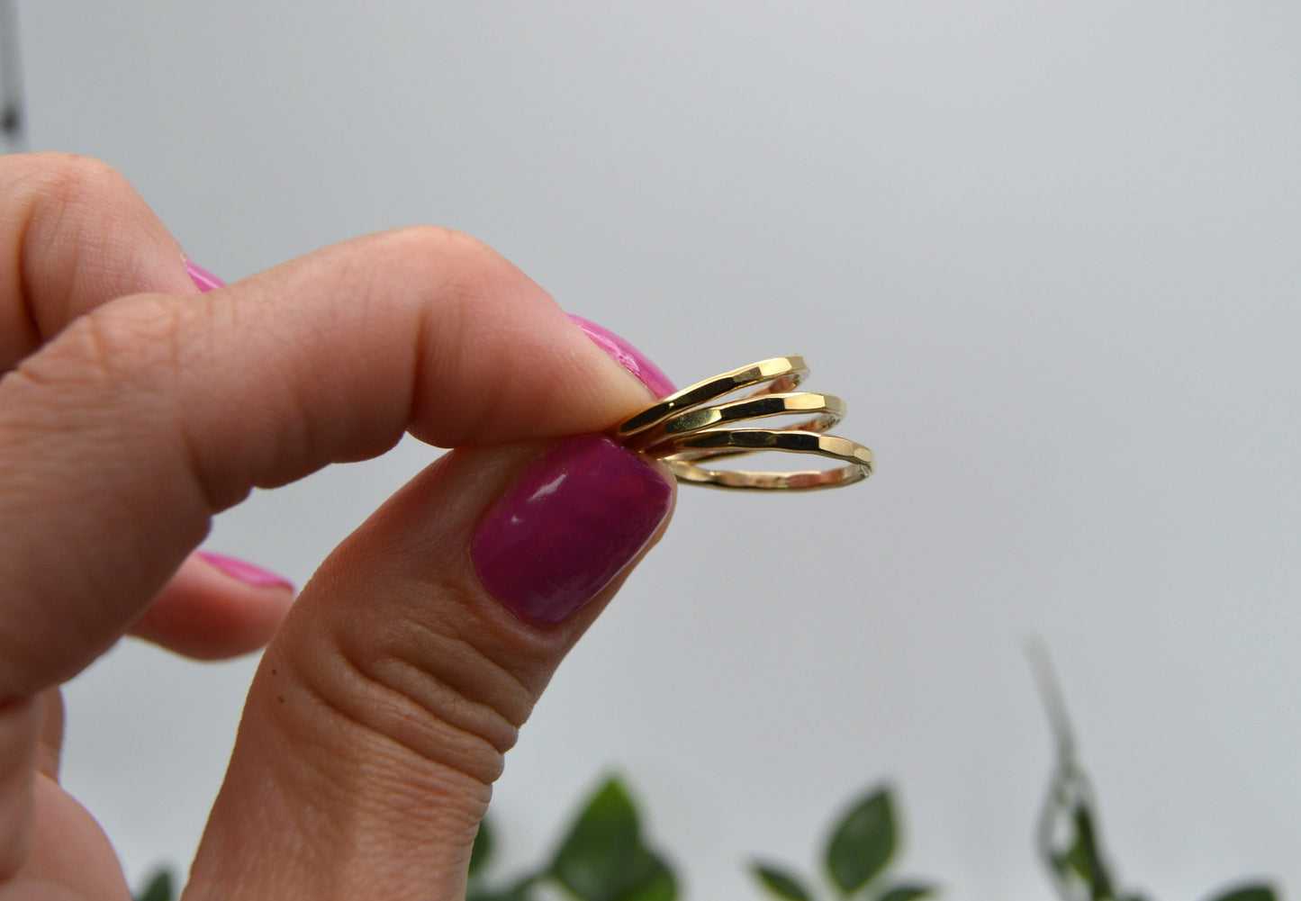
[[(887, 787), (872, 789), (840, 816), (831, 828), (824, 865), (837, 898), (915, 901), (929, 896), (929, 883), (899, 880), (887, 867), (899, 845), (894, 797)], [(774, 897), (783, 901), (813, 901), (809, 881), (777, 865), (756, 861), (751, 871)]]

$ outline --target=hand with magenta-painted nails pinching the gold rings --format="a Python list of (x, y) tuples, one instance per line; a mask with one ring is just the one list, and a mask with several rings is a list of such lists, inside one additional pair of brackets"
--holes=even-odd
[[(667, 523), (671, 480), (597, 434), (647, 386), (445, 230), (199, 294), (121, 177), (60, 155), (0, 159), (0, 898), (130, 897), (59, 787), (57, 686), (133, 631), (271, 641), (187, 901), (462, 897), (502, 754)], [(403, 430), (458, 450), (291, 607), (191, 555), (252, 488)]]

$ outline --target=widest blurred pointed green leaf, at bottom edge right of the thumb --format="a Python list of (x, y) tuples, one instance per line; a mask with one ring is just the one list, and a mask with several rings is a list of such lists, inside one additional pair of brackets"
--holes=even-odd
[(636, 806), (610, 779), (579, 814), (549, 874), (582, 901), (673, 901), (669, 866), (641, 844)]

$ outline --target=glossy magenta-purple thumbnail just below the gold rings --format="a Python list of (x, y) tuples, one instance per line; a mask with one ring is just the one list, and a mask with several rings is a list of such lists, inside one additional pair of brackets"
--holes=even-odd
[(645, 547), (673, 490), (604, 436), (561, 441), (484, 516), (470, 554), (484, 588), (532, 625), (557, 625)]

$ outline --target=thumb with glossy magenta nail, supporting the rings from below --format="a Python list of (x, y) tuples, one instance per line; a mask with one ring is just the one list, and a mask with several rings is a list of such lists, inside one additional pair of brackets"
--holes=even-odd
[(268, 649), (186, 901), (463, 898), (502, 754), (673, 497), (601, 436), (457, 450), (407, 485)]

